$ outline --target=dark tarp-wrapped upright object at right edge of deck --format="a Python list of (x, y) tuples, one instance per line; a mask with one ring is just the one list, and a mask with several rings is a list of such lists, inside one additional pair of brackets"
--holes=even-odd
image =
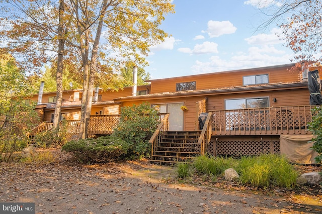
[(321, 83), (317, 70), (308, 72), (307, 87), (310, 92), (310, 105), (321, 105)]

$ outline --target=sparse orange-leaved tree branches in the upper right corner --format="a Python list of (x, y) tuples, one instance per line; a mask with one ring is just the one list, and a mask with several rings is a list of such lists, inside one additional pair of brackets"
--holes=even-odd
[[(264, 3), (264, 1), (263, 1)], [(267, 3), (267, 1), (265, 1)], [(320, 62), (322, 60), (322, 1), (284, 0), (277, 7), (262, 11), (270, 19), (259, 29), (277, 24), (282, 30), (278, 35), (295, 54), (297, 62)], [(281, 5), (280, 5), (281, 4)], [(274, 10), (274, 9), (277, 10)]]

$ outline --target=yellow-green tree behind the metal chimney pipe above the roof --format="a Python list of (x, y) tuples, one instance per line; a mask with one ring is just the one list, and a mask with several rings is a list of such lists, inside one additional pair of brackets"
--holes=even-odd
[[(133, 63), (127, 62), (120, 70), (121, 76), (124, 78), (124, 87), (133, 86), (133, 66)], [(149, 79), (150, 73), (146, 73), (144, 68), (137, 68), (137, 85), (147, 85), (145, 80)]]

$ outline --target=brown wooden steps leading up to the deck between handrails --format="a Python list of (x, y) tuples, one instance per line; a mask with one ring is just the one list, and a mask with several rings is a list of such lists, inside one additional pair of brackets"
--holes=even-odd
[(187, 162), (201, 155), (198, 144), (201, 131), (165, 131), (159, 142), (153, 146), (151, 162), (176, 163)]

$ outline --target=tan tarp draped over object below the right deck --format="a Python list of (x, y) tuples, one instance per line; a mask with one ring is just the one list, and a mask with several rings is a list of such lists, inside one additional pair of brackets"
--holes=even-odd
[(314, 158), (318, 154), (310, 148), (313, 137), (314, 135), (281, 135), (281, 154), (284, 154), (292, 163), (315, 164)]

